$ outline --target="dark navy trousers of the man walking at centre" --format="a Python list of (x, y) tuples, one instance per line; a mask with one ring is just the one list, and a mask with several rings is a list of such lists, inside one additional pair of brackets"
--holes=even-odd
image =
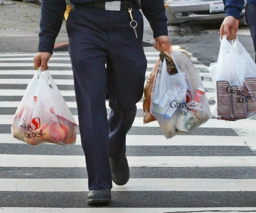
[(66, 23), (89, 190), (112, 188), (109, 157), (120, 159), (125, 154), (126, 133), (143, 95), (147, 67), (143, 18), (134, 7), (132, 15), (138, 38), (128, 10), (75, 5)]

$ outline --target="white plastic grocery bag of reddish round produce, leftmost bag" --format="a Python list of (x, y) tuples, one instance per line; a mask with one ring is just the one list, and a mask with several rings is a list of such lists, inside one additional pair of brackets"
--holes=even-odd
[(31, 145), (74, 144), (76, 121), (49, 71), (39, 68), (15, 112), (11, 133)]

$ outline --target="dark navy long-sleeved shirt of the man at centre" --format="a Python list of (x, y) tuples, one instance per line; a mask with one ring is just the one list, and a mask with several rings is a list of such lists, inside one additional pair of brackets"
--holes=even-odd
[[(71, 4), (85, 4), (95, 0), (70, 0)], [(105, 0), (97, 0), (106, 2)], [(111, 0), (110, 0), (111, 1)], [(113, 0), (112, 0), (113, 1)], [(142, 12), (150, 23), (154, 38), (168, 35), (163, 0), (141, 0)], [(38, 52), (52, 53), (66, 10), (65, 0), (43, 0)]]

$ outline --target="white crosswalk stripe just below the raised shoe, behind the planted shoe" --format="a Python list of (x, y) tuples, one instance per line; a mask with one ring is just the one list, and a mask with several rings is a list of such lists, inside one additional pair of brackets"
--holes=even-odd
[[(88, 179), (0, 179), (1, 191), (81, 192), (89, 191)], [(256, 179), (130, 178), (111, 191), (256, 191)]]

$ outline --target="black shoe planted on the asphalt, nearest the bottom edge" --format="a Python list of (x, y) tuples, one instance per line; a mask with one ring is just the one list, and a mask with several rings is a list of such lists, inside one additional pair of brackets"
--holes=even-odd
[(88, 193), (89, 205), (107, 205), (111, 201), (111, 189), (94, 189)]

